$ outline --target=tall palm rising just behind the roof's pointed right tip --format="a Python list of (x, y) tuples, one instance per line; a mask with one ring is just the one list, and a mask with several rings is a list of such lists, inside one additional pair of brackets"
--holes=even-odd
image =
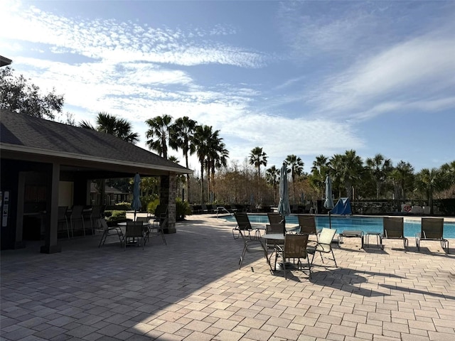
[[(185, 156), (186, 168), (188, 168), (188, 153), (193, 155), (196, 152), (196, 146), (191, 143), (196, 129), (197, 122), (188, 117), (179, 117), (171, 126), (171, 139), (169, 146), (176, 149), (181, 148), (183, 156)], [(186, 197), (190, 200), (190, 175), (186, 175)]]

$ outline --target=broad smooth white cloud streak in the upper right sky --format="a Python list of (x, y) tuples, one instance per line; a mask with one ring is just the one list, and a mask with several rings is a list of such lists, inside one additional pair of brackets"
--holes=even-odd
[[(307, 100), (322, 104), (320, 112), (344, 112), (363, 118), (368, 117), (367, 112), (405, 109), (417, 100), (431, 101), (434, 110), (439, 110), (435, 104), (441, 103), (444, 105), (440, 109), (445, 109), (455, 85), (454, 55), (455, 38), (415, 38), (328, 77), (307, 95)], [(440, 98), (434, 100), (435, 95)]]

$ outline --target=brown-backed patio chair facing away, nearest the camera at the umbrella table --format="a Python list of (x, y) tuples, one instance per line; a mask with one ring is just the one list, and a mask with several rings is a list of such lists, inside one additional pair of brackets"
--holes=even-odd
[(303, 264), (300, 259), (306, 259), (308, 262), (309, 278), (311, 278), (311, 264), (307, 254), (306, 245), (308, 244), (308, 234), (286, 234), (284, 237), (284, 245), (276, 245), (275, 247), (275, 266), (274, 271), (277, 271), (277, 259), (283, 260), (282, 270), (284, 271), (284, 278), (287, 279), (287, 259), (298, 259), (297, 269), (302, 269)]

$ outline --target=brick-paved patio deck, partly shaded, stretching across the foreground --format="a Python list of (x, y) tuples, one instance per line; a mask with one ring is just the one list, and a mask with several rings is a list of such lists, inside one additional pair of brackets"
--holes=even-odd
[(167, 246), (119, 247), (100, 234), (1, 251), (0, 340), (455, 340), (455, 239), (420, 252), (399, 240), (333, 245), (312, 278), (272, 274), (260, 254), (238, 260), (235, 223), (210, 215), (178, 222)]

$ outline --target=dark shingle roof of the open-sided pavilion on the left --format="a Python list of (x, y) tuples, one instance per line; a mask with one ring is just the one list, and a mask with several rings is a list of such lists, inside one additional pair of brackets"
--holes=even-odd
[(172, 161), (110, 134), (0, 109), (2, 150), (45, 153), (63, 158), (142, 164), (175, 173), (191, 173)]

